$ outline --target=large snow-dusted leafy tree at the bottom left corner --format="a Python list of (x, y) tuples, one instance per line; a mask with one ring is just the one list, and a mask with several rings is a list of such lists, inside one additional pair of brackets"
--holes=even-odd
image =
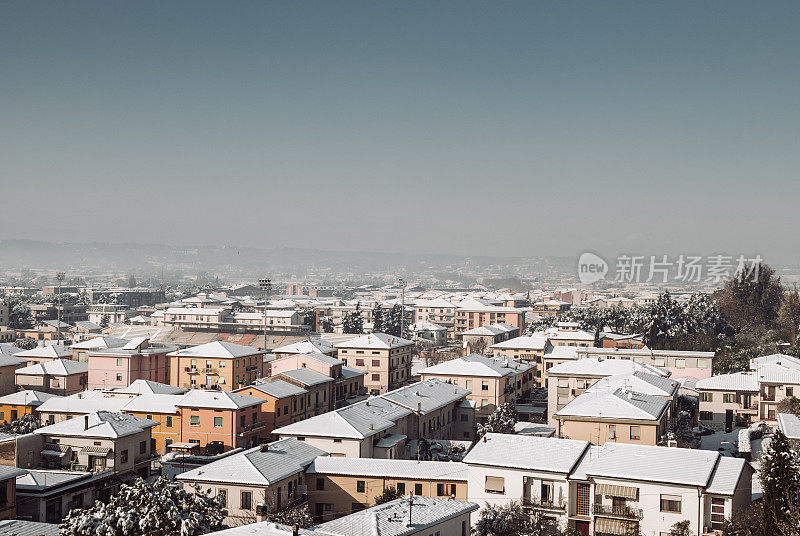
[(60, 536), (197, 536), (221, 530), (227, 511), (220, 497), (159, 477), (123, 484), (108, 503), (69, 512)]

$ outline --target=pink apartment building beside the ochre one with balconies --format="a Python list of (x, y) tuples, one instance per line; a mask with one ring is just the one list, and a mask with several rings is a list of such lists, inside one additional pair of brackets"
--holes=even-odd
[(125, 388), (136, 380), (169, 383), (167, 353), (172, 345), (151, 345), (145, 337), (131, 339), (121, 348), (90, 350), (89, 389)]

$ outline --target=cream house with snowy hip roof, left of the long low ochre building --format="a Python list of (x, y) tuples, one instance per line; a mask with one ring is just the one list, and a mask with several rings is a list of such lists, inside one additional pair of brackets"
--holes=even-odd
[(225, 523), (254, 521), (307, 500), (306, 468), (327, 453), (296, 439), (283, 439), (181, 473), (187, 491), (200, 486), (223, 497)]

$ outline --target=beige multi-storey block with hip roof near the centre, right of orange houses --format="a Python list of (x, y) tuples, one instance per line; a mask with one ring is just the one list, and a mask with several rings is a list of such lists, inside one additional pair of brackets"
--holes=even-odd
[(411, 380), (414, 343), (386, 333), (371, 333), (336, 345), (338, 357), (348, 367), (363, 370), (364, 387), (382, 394)]

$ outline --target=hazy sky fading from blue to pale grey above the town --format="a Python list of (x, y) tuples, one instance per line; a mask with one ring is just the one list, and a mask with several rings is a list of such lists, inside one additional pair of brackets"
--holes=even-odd
[(797, 260), (798, 2), (0, 3), (0, 238)]

